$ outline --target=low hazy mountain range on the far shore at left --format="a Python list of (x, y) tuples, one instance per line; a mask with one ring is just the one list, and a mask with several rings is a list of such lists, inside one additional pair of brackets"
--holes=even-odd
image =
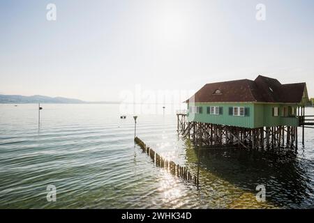
[(43, 95), (0, 95), (0, 104), (56, 103), (56, 104), (117, 104), (119, 102), (85, 102), (79, 99), (47, 97)]

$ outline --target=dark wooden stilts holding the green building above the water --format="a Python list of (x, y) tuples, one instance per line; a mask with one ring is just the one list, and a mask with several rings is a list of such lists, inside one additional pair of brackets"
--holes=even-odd
[[(302, 144), (304, 144), (304, 126), (301, 125), (301, 116), (304, 115), (304, 107), (299, 107), (297, 114), (300, 116), (302, 128)], [(213, 123), (188, 122), (186, 118), (177, 117), (179, 130), (184, 135), (193, 139), (195, 145), (201, 146), (237, 146), (239, 148), (297, 148), (298, 132), (295, 126), (271, 126), (261, 128), (240, 128), (229, 125), (217, 125)], [(182, 131), (181, 131), (182, 133)], [(165, 166), (161, 160), (160, 165)], [(179, 169), (179, 171), (181, 171)], [(186, 176), (188, 177), (188, 176)]]

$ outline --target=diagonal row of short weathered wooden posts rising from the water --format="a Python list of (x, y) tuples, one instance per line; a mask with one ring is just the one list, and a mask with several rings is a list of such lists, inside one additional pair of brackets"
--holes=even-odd
[(167, 169), (167, 171), (170, 171), (170, 173), (174, 176), (181, 177), (184, 180), (193, 182), (197, 185), (199, 184), (198, 177), (190, 174), (190, 171), (188, 171), (186, 167), (181, 167), (179, 164), (165, 159), (164, 157), (156, 153), (152, 148), (146, 146), (146, 144), (144, 144), (144, 141), (142, 141), (138, 137), (135, 137), (135, 143), (140, 146), (140, 148), (142, 148), (142, 151), (144, 153), (147, 153), (147, 155), (151, 157), (151, 160), (153, 160), (153, 162), (156, 164), (156, 167)]

